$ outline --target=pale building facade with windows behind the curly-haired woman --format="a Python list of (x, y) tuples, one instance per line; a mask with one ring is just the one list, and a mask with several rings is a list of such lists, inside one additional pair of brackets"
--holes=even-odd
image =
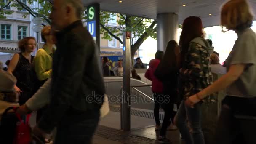
[[(6, 1), (5, 1), (6, 2)], [(36, 3), (29, 5), (27, 0), (21, 0), (29, 7), (35, 7)], [(3, 62), (11, 59), (14, 53), (20, 52), (18, 42), (24, 37), (36, 37), (37, 33), (33, 31), (34, 26), (30, 14), (25, 9), (19, 11), (16, 8), (8, 6), (3, 11), (13, 11), (11, 15), (6, 15), (6, 19), (0, 19), (0, 61)], [(39, 48), (43, 45), (39, 37)], [(35, 52), (36, 53), (36, 52)], [(35, 55), (32, 53), (32, 55)]]

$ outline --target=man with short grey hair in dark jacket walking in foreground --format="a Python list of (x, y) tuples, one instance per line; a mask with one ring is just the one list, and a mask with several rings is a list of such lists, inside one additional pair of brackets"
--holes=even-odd
[(52, 27), (57, 30), (51, 101), (34, 128), (44, 135), (57, 127), (55, 144), (87, 144), (99, 122), (104, 81), (99, 52), (81, 22), (81, 0), (54, 0)]

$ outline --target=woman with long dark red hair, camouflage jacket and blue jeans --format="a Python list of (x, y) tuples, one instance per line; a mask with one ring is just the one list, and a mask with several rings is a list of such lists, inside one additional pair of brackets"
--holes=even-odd
[[(203, 39), (203, 24), (199, 17), (190, 16), (182, 25), (180, 37), (181, 69), (179, 93), (182, 101), (176, 115), (176, 125), (186, 144), (204, 144), (201, 128), (201, 103), (195, 108), (185, 106), (184, 100), (194, 95), (211, 83), (210, 54), (213, 48)], [(189, 133), (186, 121), (192, 127), (192, 136)]]

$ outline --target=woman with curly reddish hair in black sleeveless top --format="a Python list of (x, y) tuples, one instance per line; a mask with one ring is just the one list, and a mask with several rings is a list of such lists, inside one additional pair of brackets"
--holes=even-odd
[(17, 79), (14, 88), (19, 93), (20, 105), (24, 104), (34, 94), (35, 72), (32, 69), (34, 56), (31, 53), (35, 51), (36, 46), (35, 37), (25, 37), (20, 40), (18, 47), (21, 52), (13, 55), (8, 68), (8, 72)]

